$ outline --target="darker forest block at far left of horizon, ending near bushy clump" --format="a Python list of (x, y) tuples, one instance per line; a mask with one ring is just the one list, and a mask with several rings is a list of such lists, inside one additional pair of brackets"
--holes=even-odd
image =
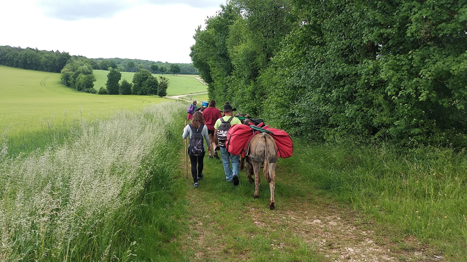
[(71, 55), (66, 52), (0, 46), (0, 65), (59, 73)]

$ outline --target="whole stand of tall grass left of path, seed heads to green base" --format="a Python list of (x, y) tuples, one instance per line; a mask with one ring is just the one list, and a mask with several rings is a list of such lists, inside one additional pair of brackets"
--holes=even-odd
[(174, 169), (165, 149), (176, 141), (169, 130), (184, 108), (164, 103), (83, 119), (62, 145), (21, 158), (8, 157), (4, 139), (0, 261), (134, 258), (138, 239), (128, 228), (148, 185), (162, 185), (155, 174)]

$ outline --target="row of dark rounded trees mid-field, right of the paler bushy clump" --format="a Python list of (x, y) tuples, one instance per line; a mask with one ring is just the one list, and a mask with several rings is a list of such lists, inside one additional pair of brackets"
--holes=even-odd
[(99, 95), (143, 95), (143, 96), (167, 96), (169, 79), (164, 76), (153, 76), (149, 70), (140, 69), (134, 73), (133, 83), (128, 83), (123, 79), (121, 83), (121, 73), (119, 70), (111, 68), (107, 75), (106, 87), (99, 89)]

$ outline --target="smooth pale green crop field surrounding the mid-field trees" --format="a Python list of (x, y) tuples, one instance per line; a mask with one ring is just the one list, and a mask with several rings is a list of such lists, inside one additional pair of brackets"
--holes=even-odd
[[(105, 86), (108, 71), (94, 70), (97, 82)], [(134, 73), (123, 72), (128, 82)], [(203, 92), (206, 86), (191, 76), (167, 76), (169, 96)], [(50, 124), (63, 124), (73, 117), (134, 110), (169, 99), (135, 95), (96, 95), (65, 87), (60, 74), (0, 66), (0, 130), (8, 134), (37, 131)]]

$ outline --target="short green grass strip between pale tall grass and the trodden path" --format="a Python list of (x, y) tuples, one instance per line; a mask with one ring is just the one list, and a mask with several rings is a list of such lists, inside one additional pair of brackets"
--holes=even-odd
[[(139, 208), (134, 213), (134, 227), (127, 234), (134, 236), (137, 261), (182, 261), (180, 244), (171, 241), (180, 234), (179, 219), (185, 212), (183, 180), (176, 179), (179, 172), (181, 130), (184, 114), (177, 115), (166, 133), (166, 143), (150, 154), (144, 169), (151, 179), (141, 195)], [(180, 201), (181, 200), (181, 201)]]

